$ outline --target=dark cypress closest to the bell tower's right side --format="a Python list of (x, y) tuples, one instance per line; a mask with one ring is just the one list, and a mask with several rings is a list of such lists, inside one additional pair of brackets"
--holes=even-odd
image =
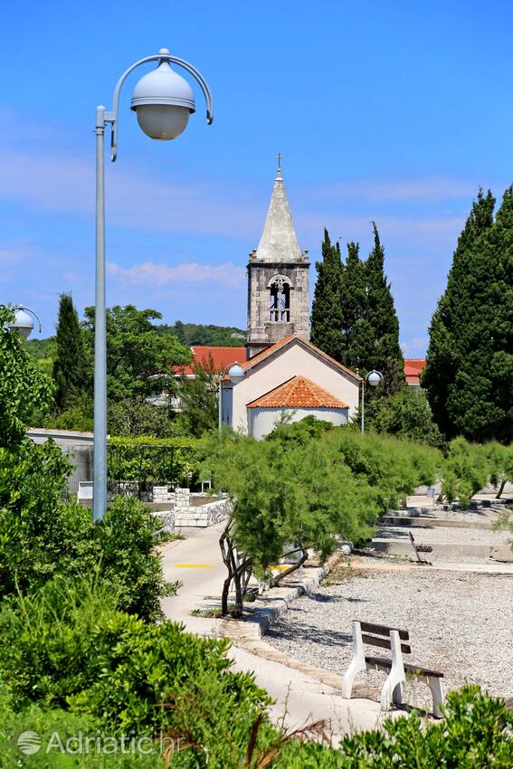
[(340, 361), (342, 261), (340, 247), (338, 243), (332, 245), (326, 229), (322, 242), (322, 261), (316, 261), (315, 266), (318, 277), (312, 302), (310, 339), (316, 347)]

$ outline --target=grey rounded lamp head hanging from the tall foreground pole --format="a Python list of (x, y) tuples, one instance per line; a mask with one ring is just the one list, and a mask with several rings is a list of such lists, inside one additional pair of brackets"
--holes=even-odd
[[(159, 53), (169, 51), (161, 48)], [(185, 130), (189, 115), (195, 112), (195, 95), (188, 82), (161, 59), (156, 70), (138, 81), (130, 109), (148, 137), (168, 141)]]

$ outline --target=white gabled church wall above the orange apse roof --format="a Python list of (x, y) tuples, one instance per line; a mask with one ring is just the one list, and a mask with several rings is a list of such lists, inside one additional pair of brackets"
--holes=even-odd
[(358, 408), (358, 383), (314, 356), (298, 342), (292, 342), (275, 356), (263, 361), (258, 368), (250, 369), (242, 382), (233, 386), (233, 429), (248, 432), (246, 404), (269, 393), (292, 376), (306, 376), (316, 385), (328, 390), (328, 393), (347, 403), (349, 419)]

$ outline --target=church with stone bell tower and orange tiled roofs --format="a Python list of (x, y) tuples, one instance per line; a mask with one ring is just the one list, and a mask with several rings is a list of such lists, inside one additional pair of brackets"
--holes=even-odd
[[(313, 415), (345, 424), (358, 407), (361, 377), (309, 342), (309, 252), (294, 230), (280, 165), (256, 249), (248, 263), (246, 347), (193, 347), (220, 373), (238, 363), (236, 384), (223, 379), (221, 418), (260, 439), (280, 422)], [(192, 369), (184, 371), (193, 375)]]

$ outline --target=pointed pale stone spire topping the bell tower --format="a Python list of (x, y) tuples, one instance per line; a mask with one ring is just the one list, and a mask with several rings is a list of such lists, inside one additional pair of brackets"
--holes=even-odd
[(278, 173), (274, 180), (267, 218), (254, 258), (257, 261), (279, 262), (302, 261), (303, 259), (294, 231), (280, 167), (278, 167)]

